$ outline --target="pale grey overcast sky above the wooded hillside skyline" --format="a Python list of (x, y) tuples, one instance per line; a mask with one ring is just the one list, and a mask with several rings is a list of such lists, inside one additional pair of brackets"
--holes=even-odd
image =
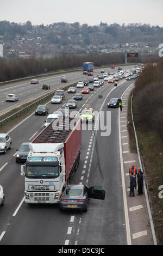
[(0, 0), (0, 20), (32, 25), (149, 23), (163, 27), (163, 0)]

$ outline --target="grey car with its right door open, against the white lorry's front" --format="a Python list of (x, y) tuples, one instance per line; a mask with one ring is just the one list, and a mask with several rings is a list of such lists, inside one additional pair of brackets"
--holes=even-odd
[(87, 211), (89, 199), (105, 199), (105, 191), (101, 186), (86, 187), (84, 185), (67, 185), (60, 197), (60, 211), (75, 209)]

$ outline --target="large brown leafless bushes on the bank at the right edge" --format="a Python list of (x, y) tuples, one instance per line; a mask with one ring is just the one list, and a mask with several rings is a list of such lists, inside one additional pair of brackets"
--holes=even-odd
[[(146, 65), (135, 82), (134, 102), (139, 113), (137, 122), (158, 132), (163, 140), (163, 58)], [(145, 129), (146, 129), (145, 128)]]

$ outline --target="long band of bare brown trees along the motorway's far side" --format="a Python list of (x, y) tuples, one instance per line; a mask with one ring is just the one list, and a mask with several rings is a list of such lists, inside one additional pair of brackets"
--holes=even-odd
[[(139, 58), (129, 58), (129, 62), (149, 62), (155, 61), (158, 56), (141, 55)], [(83, 62), (93, 62), (95, 67), (112, 64), (123, 64), (125, 62), (124, 53), (104, 53), (88, 55), (67, 55), (53, 58), (30, 57), (30, 58), (0, 58), (0, 82), (10, 81), (18, 78), (35, 76), (48, 72), (81, 68)]]

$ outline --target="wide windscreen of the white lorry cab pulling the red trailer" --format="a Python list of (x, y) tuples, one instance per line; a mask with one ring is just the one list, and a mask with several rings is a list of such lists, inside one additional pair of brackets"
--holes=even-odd
[(59, 166), (27, 165), (26, 177), (30, 179), (55, 179), (59, 176)]

